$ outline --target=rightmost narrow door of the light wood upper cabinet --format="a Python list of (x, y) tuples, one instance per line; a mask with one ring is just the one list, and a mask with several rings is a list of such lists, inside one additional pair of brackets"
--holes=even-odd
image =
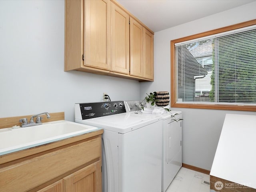
[(154, 36), (143, 28), (143, 77), (154, 79)]

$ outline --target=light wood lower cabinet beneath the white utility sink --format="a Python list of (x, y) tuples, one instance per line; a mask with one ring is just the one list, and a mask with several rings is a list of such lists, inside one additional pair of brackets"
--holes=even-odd
[(101, 192), (102, 133), (98, 130), (0, 156), (0, 191)]

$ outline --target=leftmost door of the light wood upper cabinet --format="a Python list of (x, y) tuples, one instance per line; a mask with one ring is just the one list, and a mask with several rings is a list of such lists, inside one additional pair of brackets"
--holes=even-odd
[(110, 69), (109, 0), (85, 1), (85, 66)]

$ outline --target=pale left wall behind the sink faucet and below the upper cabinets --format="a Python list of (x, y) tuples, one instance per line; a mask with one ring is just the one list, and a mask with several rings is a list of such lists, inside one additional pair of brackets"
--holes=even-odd
[[(0, 0), (0, 118), (65, 112), (76, 102), (137, 100), (135, 80), (64, 72), (64, 0)], [(18, 122), (17, 122), (18, 124)]]

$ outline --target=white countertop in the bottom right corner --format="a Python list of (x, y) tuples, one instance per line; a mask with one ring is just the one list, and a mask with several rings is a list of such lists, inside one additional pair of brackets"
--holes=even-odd
[(256, 189), (256, 116), (226, 114), (210, 175)]

